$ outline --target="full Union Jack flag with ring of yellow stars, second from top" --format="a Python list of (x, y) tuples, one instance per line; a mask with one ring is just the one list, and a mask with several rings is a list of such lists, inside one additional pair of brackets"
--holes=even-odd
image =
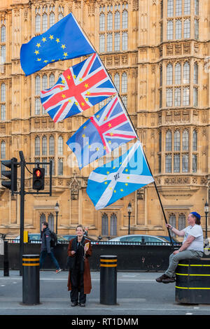
[(62, 73), (54, 86), (41, 91), (41, 103), (53, 121), (89, 109), (116, 94), (99, 56), (93, 54)]

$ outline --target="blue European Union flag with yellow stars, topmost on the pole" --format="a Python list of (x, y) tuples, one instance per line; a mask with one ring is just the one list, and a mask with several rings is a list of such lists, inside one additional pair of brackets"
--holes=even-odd
[(20, 64), (25, 75), (41, 70), (45, 65), (95, 52), (90, 41), (70, 13), (52, 25), (48, 31), (34, 36), (20, 49)]

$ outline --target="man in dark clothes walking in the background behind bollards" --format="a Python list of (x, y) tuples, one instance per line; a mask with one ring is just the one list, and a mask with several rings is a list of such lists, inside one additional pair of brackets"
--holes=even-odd
[(43, 262), (45, 260), (46, 255), (49, 255), (52, 262), (55, 264), (56, 271), (55, 273), (59, 273), (62, 269), (59, 267), (59, 263), (55, 258), (55, 255), (52, 251), (52, 247), (50, 246), (50, 230), (48, 228), (48, 222), (43, 222), (42, 230), (41, 230), (41, 255), (40, 255), (40, 269), (43, 267)]

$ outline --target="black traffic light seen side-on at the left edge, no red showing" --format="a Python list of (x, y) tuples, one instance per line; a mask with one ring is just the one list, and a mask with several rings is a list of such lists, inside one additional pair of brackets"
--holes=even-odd
[(2, 170), (1, 175), (10, 179), (10, 181), (1, 181), (1, 185), (11, 190), (12, 195), (17, 191), (17, 171), (18, 171), (18, 160), (12, 158), (10, 160), (2, 160), (1, 164), (10, 170)]

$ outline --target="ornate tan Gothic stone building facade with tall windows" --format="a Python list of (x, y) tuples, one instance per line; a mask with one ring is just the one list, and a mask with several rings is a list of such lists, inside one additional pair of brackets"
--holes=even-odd
[[(181, 229), (187, 225), (188, 213), (197, 211), (205, 228), (204, 204), (209, 202), (210, 184), (209, 1), (1, 0), (0, 160), (19, 160), (23, 151), (27, 162), (53, 163), (52, 197), (25, 196), (25, 230), (39, 232), (44, 219), (55, 230), (58, 202), (59, 234), (73, 233), (82, 223), (89, 235), (126, 235), (131, 202), (131, 233), (167, 235), (153, 183), (101, 211), (94, 209), (87, 196), (93, 167), (79, 170), (66, 141), (103, 104), (60, 123), (54, 123), (41, 107), (40, 90), (84, 58), (48, 64), (31, 76), (21, 69), (22, 43), (70, 12), (99, 52), (127, 107), (167, 221)], [(127, 147), (94, 165), (102, 165)], [(25, 186), (32, 191), (27, 170)], [(47, 168), (45, 186), (47, 190)], [(0, 194), (0, 232), (18, 235), (20, 196), (11, 197), (2, 186)]]

